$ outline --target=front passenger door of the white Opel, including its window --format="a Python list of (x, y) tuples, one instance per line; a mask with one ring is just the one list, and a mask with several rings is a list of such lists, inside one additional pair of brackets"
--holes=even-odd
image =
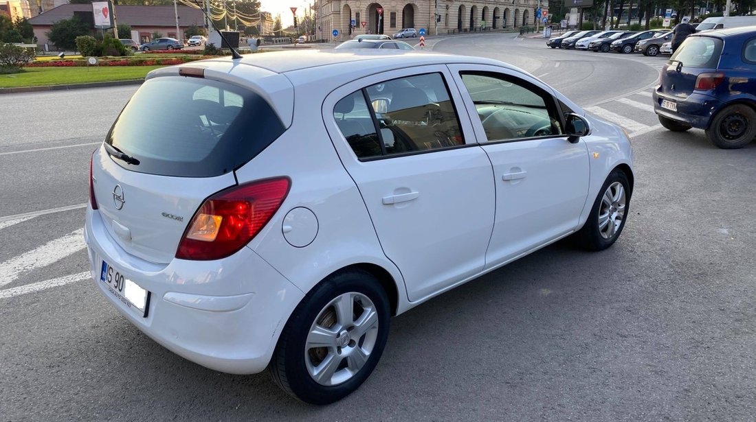
[[(588, 153), (564, 135), (549, 88), (489, 66), (450, 66), (482, 149), (491, 159), (496, 217), (486, 268), (499, 266), (578, 228), (588, 193)], [(496, 71), (494, 71), (496, 69)]]

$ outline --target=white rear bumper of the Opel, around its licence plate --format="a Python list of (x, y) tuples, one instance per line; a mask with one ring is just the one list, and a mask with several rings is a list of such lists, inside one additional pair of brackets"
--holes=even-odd
[[(249, 248), (223, 260), (149, 263), (124, 251), (91, 208), (84, 237), (93, 283), (111, 305), (166, 349), (216, 371), (263, 371), (304, 296)], [(150, 292), (146, 317), (100, 281), (103, 260)]]

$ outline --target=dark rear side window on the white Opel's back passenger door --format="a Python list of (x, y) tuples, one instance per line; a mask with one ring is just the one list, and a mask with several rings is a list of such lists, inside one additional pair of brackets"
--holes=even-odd
[(457, 112), (439, 73), (355, 91), (336, 103), (333, 117), (360, 159), (464, 145)]

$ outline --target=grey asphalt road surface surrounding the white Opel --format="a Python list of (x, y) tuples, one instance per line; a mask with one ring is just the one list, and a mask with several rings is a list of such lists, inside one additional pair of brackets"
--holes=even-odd
[(511, 35), (434, 48), (510, 61), (632, 133), (637, 181), (612, 248), (559, 242), (398, 316), (356, 393), (304, 405), (267, 374), (168, 352), (88, 280), (36, 290), (87, 270), (83, 209), (45, 210), (87, 201), (92, 143), (135, 87), (2, 95), (0, 421), (756, 420), (756, 143), (659, 128), (661, 57)]

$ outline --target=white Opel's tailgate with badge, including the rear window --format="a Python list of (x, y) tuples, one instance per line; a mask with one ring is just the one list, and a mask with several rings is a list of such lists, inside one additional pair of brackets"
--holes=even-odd
[[(265, 123), (250, 131), (253, 122)], [(147, 80), (93, 159), (102, 223), (130, 254), (169, 263), (204, 200), (235, 185), (234, 169), (283, 130), (268, 103), (244, 88), (181, 76)]]

